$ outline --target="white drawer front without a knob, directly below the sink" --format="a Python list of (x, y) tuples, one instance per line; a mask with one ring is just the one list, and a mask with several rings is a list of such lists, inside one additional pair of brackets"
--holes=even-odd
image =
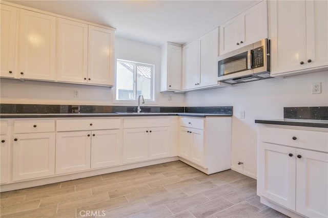
[(160, 127), (170, 126), (168, 118), (137, 118), (124, 119), (124, 128), (145, 128), (145, 127)]

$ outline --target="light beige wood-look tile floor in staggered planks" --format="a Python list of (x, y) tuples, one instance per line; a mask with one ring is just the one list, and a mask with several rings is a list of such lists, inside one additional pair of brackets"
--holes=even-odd
[(1, 193), (1, 217), (286, 217), (256, 180), (206, 175), (180, 161)]

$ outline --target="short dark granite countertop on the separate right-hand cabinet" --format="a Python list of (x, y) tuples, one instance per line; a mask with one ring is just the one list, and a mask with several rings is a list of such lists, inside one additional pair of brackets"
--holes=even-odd
[(273, 120), (255, 120), (255, 123), (328, 128), (328, 120), (273, 119)]

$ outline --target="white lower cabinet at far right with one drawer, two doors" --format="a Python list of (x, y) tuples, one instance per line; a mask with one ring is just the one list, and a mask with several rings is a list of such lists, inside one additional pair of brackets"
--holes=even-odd
[(258, 136), (261, 202), (289, 216), (327, 217), (328, 131), (262, 125)]

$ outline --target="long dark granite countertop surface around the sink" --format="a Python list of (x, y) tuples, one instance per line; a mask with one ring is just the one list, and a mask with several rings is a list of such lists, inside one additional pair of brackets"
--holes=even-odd
[(202, 114), (202, 113), (50, 113), (50, 114), (0, 114), (0, 118), (65, 118), (65, 117), (136, 117), (136, 116), (189, 116), (189, 117), (221, 117), (231, 114)]

